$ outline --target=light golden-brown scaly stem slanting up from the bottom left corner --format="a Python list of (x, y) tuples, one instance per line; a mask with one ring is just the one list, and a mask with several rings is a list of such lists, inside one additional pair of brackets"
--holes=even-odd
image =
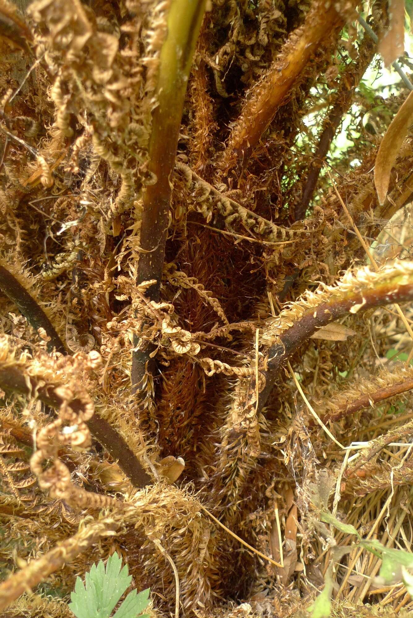
[(0, 584), (0, 611), (104, 536), (113, 536), (118, 527), (109, 517), (92, 522), (87, 527), (83, 525), (77, 534), (57, 544), (41, 558), (30, 561)]

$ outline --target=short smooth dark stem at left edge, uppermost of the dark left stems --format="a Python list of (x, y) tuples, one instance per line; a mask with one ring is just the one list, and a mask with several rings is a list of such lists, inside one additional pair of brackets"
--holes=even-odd
[(48, 341), (48, 350), (62, 354), (67, 354), (66, 348), (56, 332), (53, 324), (46, 316), (45, 311), (38, 305), (35, 299), (25, 290), (22, 284), (7, 270), (4, 266), (0, 265), (0, 290), (10, 298), (22, 313), (28, 322), (32, 324), (35, 331), (39, 328), (43, 328), (46, 335), (50, 337)]

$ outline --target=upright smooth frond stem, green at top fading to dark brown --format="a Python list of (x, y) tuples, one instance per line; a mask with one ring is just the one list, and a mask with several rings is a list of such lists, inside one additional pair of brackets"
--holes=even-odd
[[(168, 235), (171, 180), (181, 127), (184, 99), (195, 43), (205, 12), (205, 0), (172, 0), (168, 35), (160, 54), (157, 105), (152, 116), (148, 171), (155, 182), (143, 190), (143, 213), (137, 284), (155, 280), (147, 297), (159, 300), (165, 243)], [(135, 345), (138, 337), (135, 337)], [(132, 392), (140, 390), (150, 352), (146, 345), (132, 356)]]

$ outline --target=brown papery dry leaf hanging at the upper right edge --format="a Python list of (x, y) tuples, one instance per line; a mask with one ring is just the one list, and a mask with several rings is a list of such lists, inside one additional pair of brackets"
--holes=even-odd
[(407, 131), (413, 122), (413, 91), (394, 116), (390, 127), (381, 140), (374, 166), (374, 184), (377, 190), (378, 201), (383, 204), (390, 182), (390, 172), (394, 161), (399, 154)]

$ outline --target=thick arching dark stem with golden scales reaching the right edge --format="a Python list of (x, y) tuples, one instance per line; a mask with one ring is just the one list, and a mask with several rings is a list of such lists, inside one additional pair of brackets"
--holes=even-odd
[(257, 412), (260, 412), (284, 363), (296, 352), (313, 332), (321, 326), (343, 318), (348, 313), (364, 312), (374, 307), (413, 300), (413, 278), (401, 276), (400, 271), (389, 275), (386, 281), (370, 282), (365, 289), (334, 294), (331, 300), (305, 311), (296, 323), (279, 335), (276, 344), (268, 350), (268, 367), (263, 371), (265, 387), (260, 392)]

